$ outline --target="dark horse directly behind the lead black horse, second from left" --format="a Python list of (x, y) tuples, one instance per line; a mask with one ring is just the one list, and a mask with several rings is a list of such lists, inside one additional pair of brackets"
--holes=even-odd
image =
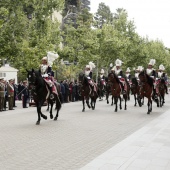
[[(97, 85), (95, 85), (95, 86), (97, 88)], [(81, 100), (82, 100), (82, 103), (83, 103), (82, 112), (85, 111), (85, 100), (86, 100), (87, 106), (89, 108), (92, 108), (92, 110), (94, 110), (95, 105), (96, 105), (96, 99), (98, 98), (98, 94), (97, 94), (97, 91), (91, 90), (88, 79), (87, 79), (87, 77), (85, 76), (84, 73), (79, 74), (79, 94), (81, 96)], [(89, 104), (89, 99), (91, 99), (90, 104)]]

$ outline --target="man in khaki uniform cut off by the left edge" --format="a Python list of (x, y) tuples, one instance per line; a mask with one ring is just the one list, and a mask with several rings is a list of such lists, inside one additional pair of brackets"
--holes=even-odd
[(5, 84), (3, 81), (4, 79), (0, 78), (0, 112), (3, 111), (5, 100)]

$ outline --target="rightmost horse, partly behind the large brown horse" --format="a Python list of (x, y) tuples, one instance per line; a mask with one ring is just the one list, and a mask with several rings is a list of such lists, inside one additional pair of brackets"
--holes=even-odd
[(159, 83), (157, 84), (157, 88), (159, 91), (159, 104), (160, 107), (162, 107), (165, 103), (165, 92), (166, 92), (166, 88), (165, 88), (165, 80), (163, 78), (161, 78), (160, 80), (158, 80)]

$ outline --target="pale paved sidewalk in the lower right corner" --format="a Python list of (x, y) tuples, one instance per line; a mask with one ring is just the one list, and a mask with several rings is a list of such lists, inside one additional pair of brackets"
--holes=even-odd
[(170, 109), (81, 170), (170, 170)]

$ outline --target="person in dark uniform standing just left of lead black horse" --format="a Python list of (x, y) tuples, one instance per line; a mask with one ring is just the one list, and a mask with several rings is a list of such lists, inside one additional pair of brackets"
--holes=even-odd
[(28, 90), (27, 81), (23, 81), (23, 86), (24, 86), (24, 89), (22, 91), (22, 106), (23, 108), (28, 108), (27, 101), (29, 99), (29, 90)]

